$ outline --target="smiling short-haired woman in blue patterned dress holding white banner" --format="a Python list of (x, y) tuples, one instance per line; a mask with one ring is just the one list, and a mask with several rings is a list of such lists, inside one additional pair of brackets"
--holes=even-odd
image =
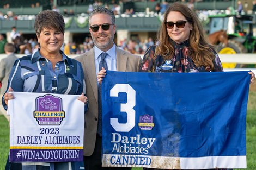
[[(65, 22), (56, 11), (41, 11), (35, 18), (35, 33), (40, 48), (33, 54), (15, 61), (7, 91), (2, 103), (7, 110), (8, 100), (14, 99), (15, 92), (58, 93), (80, 95), (78, 100), (88, 109), (88, 98), (84, 96), (84, 74), (77, 60), (66, 56), (61, 50), (64, 42)], [(83, 165), (83, 162), (81, 162)], [(5, 169), (15, 170), (65, 170), (74, 169), (74, 162), (52, 163), (9, 163)]]

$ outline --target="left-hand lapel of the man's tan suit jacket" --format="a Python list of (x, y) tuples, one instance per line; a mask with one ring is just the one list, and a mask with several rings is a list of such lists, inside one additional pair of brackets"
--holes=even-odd
[(91, 49), (87, 56), (84, 57), (84, 65), (86, 66), (86, 76), (89, 79), (89, 84), (92, 86), (93, 94), (95, 99), (98, 98), (98, 87), (96, 79), (96, 68), (95, 68), (95, 59), (94, 59), (94, 48)]

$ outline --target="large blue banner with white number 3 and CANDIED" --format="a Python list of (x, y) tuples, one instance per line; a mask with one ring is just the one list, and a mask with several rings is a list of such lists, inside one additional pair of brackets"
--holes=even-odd
[(106, 167), (246, 168), (248, 72), (107, 71)]

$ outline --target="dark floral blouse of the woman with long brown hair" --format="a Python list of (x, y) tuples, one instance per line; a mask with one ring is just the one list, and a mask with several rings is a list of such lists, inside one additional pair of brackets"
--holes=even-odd
[[(213, 48), (211, 48), (212, 53), (215, 54), (215, 58), (212, 61), (214, 64), (214, 70), (211, 70), (210, 66), (200, 66), (197, 67), (192, 58), (190, 57), (190, 45), (189, 41), (186, 40), (181, 43), (174, 43), (175, 53), (172, 59), (164, 60), (161, 55), (157, 55), (155, 58), (155, 64), (153, 62), (153, 56), (155, 53), (156, 46), (150, 46), (147, 52), (144, 54), (142, 60), (140, 72), (178, 72), (178, 73), (188, 73), (188, 72), (222, 72), (221, 60), (218, 54)], [(155, 66), (155, 71), (153, 71), (153, 65)]]

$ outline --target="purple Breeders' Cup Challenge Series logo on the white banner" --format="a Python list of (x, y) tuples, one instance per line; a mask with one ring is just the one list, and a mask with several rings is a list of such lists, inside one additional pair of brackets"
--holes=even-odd
[(34, 118), (39, 125), (60, 125), (65, 118), (62, 110), (62, 99), (47, 94), (37, 97), (35, 102)]

